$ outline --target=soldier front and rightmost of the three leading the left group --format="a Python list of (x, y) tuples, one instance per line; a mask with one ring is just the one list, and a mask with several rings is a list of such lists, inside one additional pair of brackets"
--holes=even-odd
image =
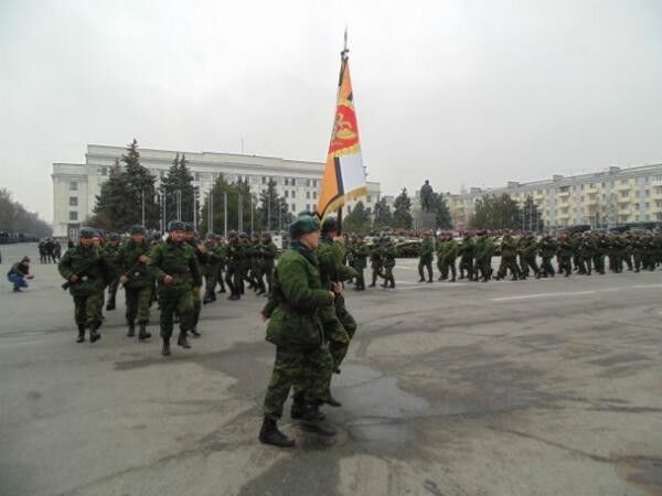
[(180, 334), (177, 344), (185, 349), (191, 347), (186, 332), (193, 328), (193, 288), (202, 285), (202, 277), (195, 250), (184, 241), (184, 223), (171, 220), (168, 224), (168, 239), (154, 246), (149, 255), (148, 269), (159, 283), (161, 305), (161, 354), (170, 355), (173, 317), (180, 319)]

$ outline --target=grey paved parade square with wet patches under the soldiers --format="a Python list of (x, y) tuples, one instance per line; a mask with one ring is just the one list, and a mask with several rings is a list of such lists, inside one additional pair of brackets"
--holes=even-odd
[[(24, 293), (4, 278), (22, 255)], [(34, 245), (2, 247), (0, 495), (662, 494), (662, 272), (346, 288), (359, 331), (325, 407), (335, 438), (281, 420), (257, 441), (274, 359), (265, 298), (205, 305), (190, 351), (76, 344), (72, 299)], [(366, 280), (370, 282), (367, 273)]]

